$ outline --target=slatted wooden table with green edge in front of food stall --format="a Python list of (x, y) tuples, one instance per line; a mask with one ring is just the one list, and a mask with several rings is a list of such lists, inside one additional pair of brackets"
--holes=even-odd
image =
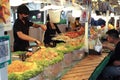
[(108, 61), (108, 53), (88, 55), (68, 71), (61, 80), (96, 80)]

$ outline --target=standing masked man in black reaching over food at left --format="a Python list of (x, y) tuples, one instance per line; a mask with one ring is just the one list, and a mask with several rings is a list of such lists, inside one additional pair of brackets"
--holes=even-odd
[(14, 51), (26, 51), (29, 47), (29, 42), (35, 42), (41, 45), (41, 42), (31, 36), (29, 36), (30, 26), (35, 28), (42, 28), (46, 30), (44, 24), (35, 24), (28, 20), (29, 9), (25, 4), (19, 5), (17, 8), (17, 19), (13, 25), (13, 35), (14, 35)]

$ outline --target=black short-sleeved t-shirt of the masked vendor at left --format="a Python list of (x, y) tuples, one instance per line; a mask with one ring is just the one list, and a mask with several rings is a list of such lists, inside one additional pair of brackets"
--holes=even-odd
[(29, 34), (29, 27), (32, 26), (33, 23), (29, 21), (25, 21), (25, 24), (17, 19), (13, 26), (13, 35), (14, 35), (14, 51), (25, 51), (27, 47), (29, 47), (29, 42), (22, 40), (18, 37), (17, 32), (21, 31), (24, 34)]

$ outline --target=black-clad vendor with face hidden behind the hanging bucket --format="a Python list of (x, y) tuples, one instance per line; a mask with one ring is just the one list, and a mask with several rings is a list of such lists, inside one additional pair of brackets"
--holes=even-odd
[(61, 33), (56, 23), (50, 21), (49, 14), (47, 15), (47, 30), (45, 31), (44, 35), (44, 44), (46, 47), (52, 47), (56, 44), (55, 40), (52, 40), (55, 37), (56, 33)]

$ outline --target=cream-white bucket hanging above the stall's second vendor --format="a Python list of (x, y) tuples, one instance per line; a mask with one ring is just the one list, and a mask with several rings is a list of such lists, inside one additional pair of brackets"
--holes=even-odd
[(48, 13), (49, 13), (51, 22), (53, 22), (53, 23), (59, 23), (60, 22), (61, 10), (50, 9), (50, 10), (48, 10)]

